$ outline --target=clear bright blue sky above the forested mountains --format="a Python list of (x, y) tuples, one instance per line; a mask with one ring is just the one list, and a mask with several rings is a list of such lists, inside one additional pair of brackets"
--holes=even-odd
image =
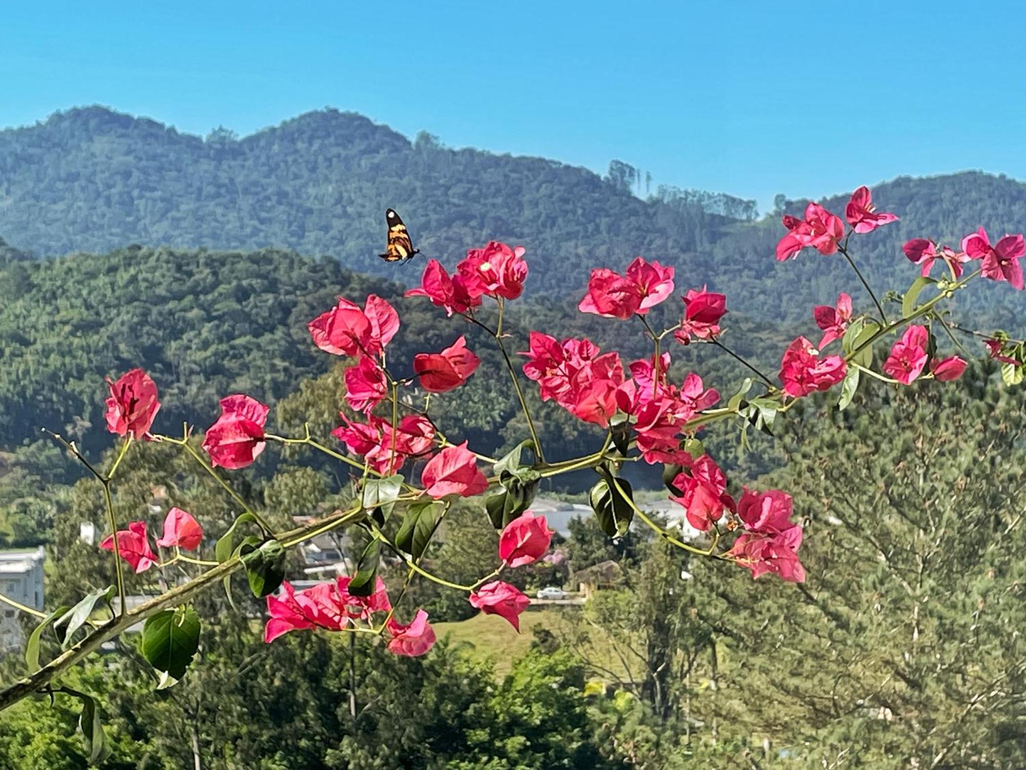
[(0, 126), (206, 133), (325, 106), (450, 147), (756, 198), (1026, 179), (1026, 10), (966, 2), (90, 2), (0, 10)]

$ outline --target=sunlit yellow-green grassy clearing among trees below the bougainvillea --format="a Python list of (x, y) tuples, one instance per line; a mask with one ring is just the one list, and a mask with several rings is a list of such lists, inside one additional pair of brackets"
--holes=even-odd
[[(580, 613), (578, 607), (528, 609), (520, 616), (520, 633), (498, 615), (484, 613), (458, 623), (435, 623), (434, 628), (439, 639), (447, 637), (450, 643), (466, 643), (473, 647), (475, 655), (492, 662), (496, 676), (501, 678), (509, 673), (514, 660), (530, 649), (535, 628), (546, 628), (561, 638), (579, 638), (580, 634), (571, 633), (570, 629)], [(594, 632), (589, 637), (589, 641), (575, 646), (576, 651), (585, 660), (594, 662), (596, 667), (627, 678), (624, 664), (608, 641)], [(614, 679), (597, 669), (592, 676), (606, 682)]]

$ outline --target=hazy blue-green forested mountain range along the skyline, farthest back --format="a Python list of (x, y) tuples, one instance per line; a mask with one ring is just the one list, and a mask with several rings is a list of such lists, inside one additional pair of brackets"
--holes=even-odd
[[(614, 162), (600, 178), (543, 158), (447, 149), (429, 134), (410, 142), (334, 110), (244, 139), (227, 130), (201, 139), (90, 107), (0, 131), (0, 234), (38, 255), (129, 243), (273, 246), (408, 283), (420, 263), (397, 267), (376, 256), (391, 205), (423, 253), (449, 266), (487, 239), (522, 243), (536, 294), (576, 295), (592, 267), (622, 267), (638, 254), (675, 265), (681, 286), (708, 282), (733, 308), (778, 319), (804, 319), (811, 305), (851, 286), (839, 258), (775, 263), (783, 233), (776, 216), (732, 219), (723, 213), (748, 217), (751, 206), (694, 191), (662, 189), (642, 200), (631, 192), (633, 170)], [(914, 275), (900, 252), (909, 237), (954, 241), (980, 225), (1000, 234), (1026, 223), (1026, 186), (978, 172), (899, 178), (875, 186), (874, 199), (901, 217), (855, 246), (881, 292)], [(826, 201), (837, 213), (843, 202)], [(787, 210), (802, 206), (781, 201)], [(1005, 290), (987, 293), (995, 322), (1020, 307)]]

